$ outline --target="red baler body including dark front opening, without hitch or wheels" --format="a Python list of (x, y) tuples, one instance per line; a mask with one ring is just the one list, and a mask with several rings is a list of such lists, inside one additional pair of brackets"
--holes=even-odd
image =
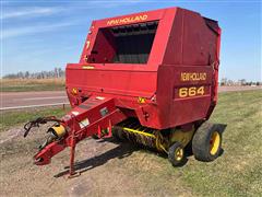
[(70, 103), (114, 97), (127, 116), (157, 129), (207, 119), (219, 38), (216, 21), (180, 8), (93, 21), (80, 62), (67, 66)]

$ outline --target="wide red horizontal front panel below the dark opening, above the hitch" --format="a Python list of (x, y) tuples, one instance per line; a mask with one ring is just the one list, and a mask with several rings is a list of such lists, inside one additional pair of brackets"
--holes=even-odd
[(151, 97), (156, 90), (156, 72), (84, 70), (67, 68), (68, 92), (73, 88), (90, 93)]

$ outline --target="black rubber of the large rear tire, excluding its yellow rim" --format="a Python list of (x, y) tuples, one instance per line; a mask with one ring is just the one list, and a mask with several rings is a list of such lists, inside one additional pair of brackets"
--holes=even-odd
[[(211, 162), (214, 161), (216, 158), (219, 157), (222, 152), (222, 132), (224, 128), (223, 126), (218, 124), (210, 124), (204, 123), (202, 124), (199, 129), (195, 131), (193, 139), (192, 139), (192, 151), (194, 154), (194, 158), (199, 161), (203, 162)], [(218, 150), (215, 154), (210, 153), (210, 140), (213, 135), (213, 132), (217, 131), (221, 141), (218, 146)]]

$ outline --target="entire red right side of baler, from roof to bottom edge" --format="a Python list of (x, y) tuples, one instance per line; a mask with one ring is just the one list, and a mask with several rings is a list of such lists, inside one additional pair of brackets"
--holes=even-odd
[[(216, 22), (209, 21), (219, 31)], [(157, 104), (163, 128), (207, 119), (217, 95), (219, 34), (199, 13), (177, 9), (163, 65), (157, 74)], [(175, 45), (176, 44), (176, 45)], [(205, 74), (182, 80), (181, 74)], [(179, 90), (201, 90), (203, 95), (179, 97)], [(172, 92), (172, 94), (170, 94)], [(202, 93), (202, 92), (201, 92)]]

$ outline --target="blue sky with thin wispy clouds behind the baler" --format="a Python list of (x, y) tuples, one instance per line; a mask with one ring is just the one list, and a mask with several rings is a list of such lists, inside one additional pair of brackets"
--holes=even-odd
[(262, 81), (261, 1), (1, 0), (1, 73), (78, 62), (92, 20), (168, 7), (196, 11), (222, 28), (219, 79)]

